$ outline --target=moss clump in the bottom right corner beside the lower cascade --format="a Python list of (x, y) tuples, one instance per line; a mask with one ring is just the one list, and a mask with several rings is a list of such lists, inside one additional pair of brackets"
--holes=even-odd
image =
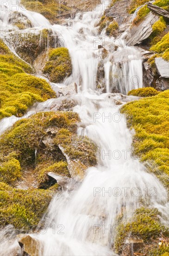
[[(157, 209), (146, 209), (142, 207), (135, 211), (130, 222), (127, 224), (121, 222), (114, 243), (116, 252), (122, 252), (125, 240), (129, 236), (130, 238), (138, 237), (139, 239), (143, 239), (145, 244), (150, 244), (152, 240), (161, 237), (161, 233), (168, 234), (167, 229), (160, 222), (159, 215), (160, 213)], [(138, 253), (143, 252), (143, 250), (144, 247)]]

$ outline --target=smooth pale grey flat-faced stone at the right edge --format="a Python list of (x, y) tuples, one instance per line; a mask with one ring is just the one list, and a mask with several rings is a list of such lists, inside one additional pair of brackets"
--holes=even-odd
[(155, 58), (156, 69), (162, 78), (169, 78), (169, 62), (163, 58)]

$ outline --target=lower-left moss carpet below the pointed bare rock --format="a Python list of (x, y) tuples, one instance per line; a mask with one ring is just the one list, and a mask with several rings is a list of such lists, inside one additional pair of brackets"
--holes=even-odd
[(15, 228), (28, 231), (38, 225), (50, 203), (52, 192), (43, 189), (14, 189), (0, 182), (0, 195), (0, 226), (13, 224)]

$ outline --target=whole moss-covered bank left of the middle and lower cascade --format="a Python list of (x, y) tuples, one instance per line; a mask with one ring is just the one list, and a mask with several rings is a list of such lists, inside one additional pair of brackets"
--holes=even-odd
[[(78, 160), (82, 167), (96, 164), (95, 144), (87, 137), (76, 135), (79, 121), (74, 112), (38, 113), (17, 121), (1, 135), (2, 226), (11, 223), (19, 229), (28, 229), (38, 224), (50, 202), (51, 189), (59, 187), (49, 183), (47, 173), (70, 177), (68, 162), (60, 146), (70, 160)], [(30, 169), (38, 187), (43, 189), (14, 189), (16, 181)]]

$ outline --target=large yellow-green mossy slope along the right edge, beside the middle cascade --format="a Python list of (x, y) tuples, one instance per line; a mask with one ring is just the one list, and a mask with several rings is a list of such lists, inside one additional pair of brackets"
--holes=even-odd
[[(135, 93), (136, 94), (136, 93)], [(127, 103), (128, 126), (135, 129), (134, 151), (151, 163), (150, 171), (168, 186), (169, 175), (169, 90)]]

